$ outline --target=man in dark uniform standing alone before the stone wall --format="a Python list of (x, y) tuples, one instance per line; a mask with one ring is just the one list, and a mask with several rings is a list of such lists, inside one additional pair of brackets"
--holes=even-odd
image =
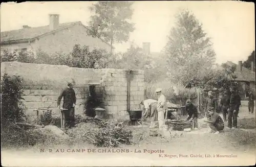
[(75, 104), (76, 104), (76, 93), (73, 89), (74, 85), (72, 82), (68, 83), (68, 87), (63, 89), (60, 93), (57, 101), (58, 108), (60, 107), (60, 101), (63, 97), (63, 108), (65, 115), (65, 128), (75, 127)]

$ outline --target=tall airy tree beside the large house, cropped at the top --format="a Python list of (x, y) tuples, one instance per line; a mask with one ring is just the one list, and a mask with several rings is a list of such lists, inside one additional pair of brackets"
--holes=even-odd
[(130, 33), (134, 31), (134, 24), (130, 22), (133, 15), (133, 2), (97, 2), (89, 9), (93, 13), (89, 21), (88, 34), (102, 37), (111, 44), (126, 42)]

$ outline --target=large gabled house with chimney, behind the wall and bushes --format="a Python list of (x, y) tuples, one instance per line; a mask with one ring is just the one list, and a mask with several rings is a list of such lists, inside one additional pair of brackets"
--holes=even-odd
[[(1, 32), (1, 51), (36, 51), (48, 54), (70, 53), (75, 44), (89, 45), (90, 49), (111, 51), (111, 46), (101, 38), (87, 34), (89, 30), (80, 21), (59, 23), (58, 14), (49, 14), (49, 25), (42, 27), (23, 26), (23, 29)], [(90, 31), (90, 30), (89, 30)]]

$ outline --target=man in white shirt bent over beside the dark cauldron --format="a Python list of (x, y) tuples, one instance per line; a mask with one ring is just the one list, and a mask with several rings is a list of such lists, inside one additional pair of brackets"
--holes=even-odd
[(143, 118), (150, 117), (150, 128), (155, 128), (157, 122), (157, 101), (154, 99), (147, 99), (142, 101), (140, 104), (142, 104), (145, 109)]

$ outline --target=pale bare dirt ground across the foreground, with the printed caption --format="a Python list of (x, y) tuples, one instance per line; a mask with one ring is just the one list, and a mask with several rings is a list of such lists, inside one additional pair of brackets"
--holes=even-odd
[[(252, 124), (246, 126), (248, 120), (252, 121)], [(2, 164), (4, 166), (253, 165), (255, 164), (255, 112), (249, 114), (246, 105), (240, 108), (238, 126), (241, 124), (243, 127), (240, 129), (224, 130), (219, 134), (208, 133), (208, 128), (191, 132), (174, 131), (172, 134), (176, 137), (170, 139), (149, 137), (148, 128), (143, 126), (145, 138), (138, 145), (123, 145), (111, 149), (111, 153), (102, 153), (102, 149), (106, 148), (88, 145), (72, 148), (64, 146), (31, 148), (26, 151), (2, 150)], [(143, 131), (141, 126), (134, 126), (133, 129), (138, 135)], [(40, 152), (40, 149), (45, 149), (45, 152)], [(49, 152), (49, 149), (52, 149), (52, 152)], [(56, 152), (57, 149), (63, 149), (63, 153)], [(70, 153), (72, 149), (84, 149), (84, 152), (76, 150)], [(92, 149), (95, 149), (96, 153), (89, 152), (93, 151)], [(120, 149), (129, 149), (129, 153), (116, 153)], [(153, 153), (148, 153), (152, 150)], [(163, 152), (159, 153), (160, 150)]]

